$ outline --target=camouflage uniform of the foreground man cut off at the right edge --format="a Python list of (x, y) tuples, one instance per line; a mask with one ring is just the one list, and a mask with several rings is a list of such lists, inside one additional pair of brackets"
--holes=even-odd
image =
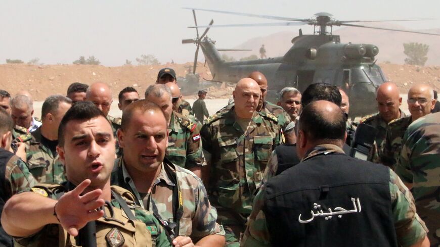
[(440, 244), (440, 113), (414, 121), (405, 132), (395, 172), (409, 184), (417, 211), (430, 229), (431, 246)]

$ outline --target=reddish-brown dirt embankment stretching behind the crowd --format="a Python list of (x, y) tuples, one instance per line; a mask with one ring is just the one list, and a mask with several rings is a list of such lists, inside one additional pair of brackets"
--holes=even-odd
[[(185, 76), (186, 64), (164, 64), (155, 66), (120, 66), (105, 67), (100, 65), (0, 65), (0, 88), (15, 95), (19, 90), (29, 90), (34, 101), (43, 101), (54, 93), (65, 94), (70, 83), (79, 81), (91, 84), (104, 81), (111, 85), (113, 97), (126, 87), (133, 86), (139, 92), (145, 91), (148, 85), (156, 81), (157, 72), (163, 67), (171, 67), (177, 76)], [(435, 89), (440, 89), (440, 66), (419, 67), (411, 65), (380, 64), (388, 80), (399, 85), (401, 93), (407, 93), (414, 83), (428, 83)], [(202, 63), (197, 66), (197, 73), (202, 78), (210, 79), (208, 67)], [(208, 89), (207, 98), (229, 98), (232, 85), (223, 84), (221, 88)], [(186, 96), (195, 98), (195, 95)]]

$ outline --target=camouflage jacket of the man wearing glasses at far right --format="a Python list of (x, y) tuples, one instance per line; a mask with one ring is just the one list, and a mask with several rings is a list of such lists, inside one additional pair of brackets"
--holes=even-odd
[(411, 122), (411, 116), (407, 116), (392, 120), (386, 127), (380, 161), (391, 169), (394, 169), (395, 164), (399, 160), (400, 152), (402, 151), (402, 138)]

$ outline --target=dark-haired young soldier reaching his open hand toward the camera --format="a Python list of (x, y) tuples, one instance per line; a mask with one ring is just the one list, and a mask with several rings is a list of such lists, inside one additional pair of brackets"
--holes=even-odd
[(2, 225), (20, 246), (171, 246), (133, 194), (110, 186), (115, 145), (102, 111), (90, 102), (76, 103), (59, 136), (67, 181), (37, 184), (5, 205)]

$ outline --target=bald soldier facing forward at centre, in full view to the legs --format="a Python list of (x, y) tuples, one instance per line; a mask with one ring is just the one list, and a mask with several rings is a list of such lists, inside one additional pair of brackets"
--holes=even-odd
[(209, 200), (225, 227), (228, 246), (237, 246), (252, 209), (269, 155), (280, 143), (278, 119), (256, 112), (261, 90), (250, 78), (238, 81), (235, 106), (209, 117), (201, 130), (203, 151), (211, 177)]

